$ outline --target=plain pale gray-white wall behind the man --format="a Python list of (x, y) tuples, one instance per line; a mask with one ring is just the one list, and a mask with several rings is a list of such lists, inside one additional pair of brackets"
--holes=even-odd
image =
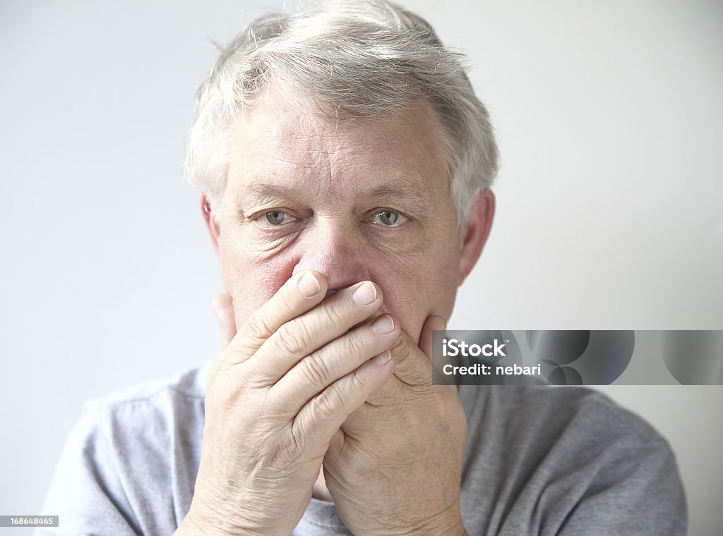
[[(85, 399), (215, 357), (184, 138), (212, 40), (278, 5), (0, 4), (0, 514), (39, 513)], [(502, 154), (450, 329), (723, 329), (723, 5), (406, 5), (469, 52)], [(722, 389), (604, 389), (672, 442), (691, 535), (723, 527)]]

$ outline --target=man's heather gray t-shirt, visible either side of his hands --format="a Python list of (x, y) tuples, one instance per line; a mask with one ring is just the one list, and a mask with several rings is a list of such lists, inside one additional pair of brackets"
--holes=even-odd
[[(88, 402), (36, 535), (171, 535), (190, 505), (210, 362)], [(470, 535), (685, 535), (675, 456), (636, 415), (576, 387), (461, 386), (461, 509)], [(435, 475), (429, 475), (434, 485)], [(312, 499), (294, 536), (349, 535)]]

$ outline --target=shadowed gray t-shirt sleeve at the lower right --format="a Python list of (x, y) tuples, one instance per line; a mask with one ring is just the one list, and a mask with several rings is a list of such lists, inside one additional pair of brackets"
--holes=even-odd
[(662, 438), (601, 467), (560, 536), (685, 536), (688, 509), (675, 455)]

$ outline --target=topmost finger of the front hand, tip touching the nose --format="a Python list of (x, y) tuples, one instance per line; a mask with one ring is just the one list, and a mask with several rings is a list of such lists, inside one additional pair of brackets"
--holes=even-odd
[(317, 306), (327, 290), (324, 275), (305, 270), (292, 276), (264, 305), (257, 309), (239, 329), (227, 352), (229, 364), (242, 363), (256, 351), (283, 324)]

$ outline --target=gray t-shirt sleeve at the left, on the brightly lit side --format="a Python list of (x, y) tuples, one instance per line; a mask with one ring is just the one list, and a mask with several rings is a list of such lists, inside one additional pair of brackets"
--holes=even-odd
[(85, 412), (69, 433), (43, 505), (59, 516), (58, 527), (35, 536), (140, 535), (114, 467), (117, 457), (98, 410)]

